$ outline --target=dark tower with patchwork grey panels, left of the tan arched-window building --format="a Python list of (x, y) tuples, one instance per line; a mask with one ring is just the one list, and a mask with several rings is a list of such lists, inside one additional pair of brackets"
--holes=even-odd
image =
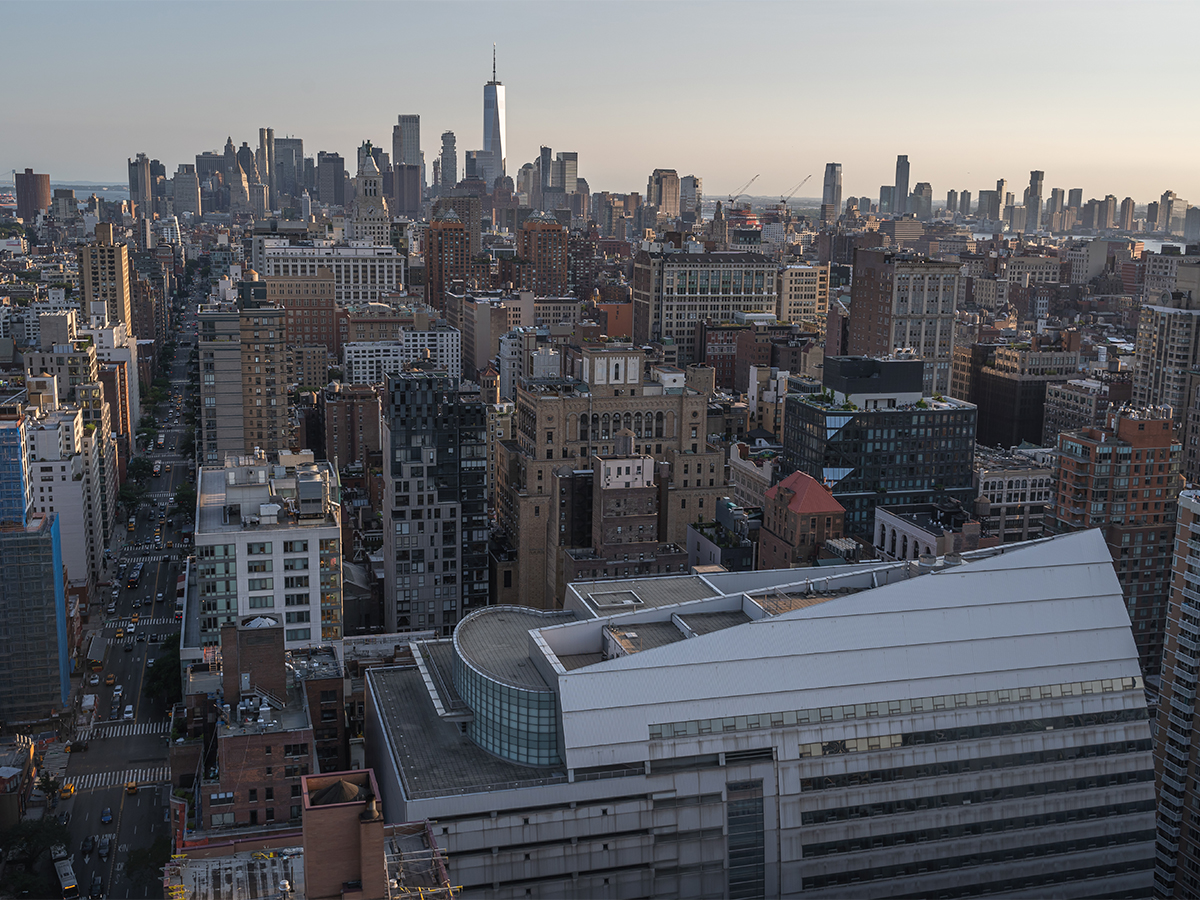
[(479, 388), (440, 371), (389, 374), (382, 443), (385, 625), (448, 636), (488, 601)]

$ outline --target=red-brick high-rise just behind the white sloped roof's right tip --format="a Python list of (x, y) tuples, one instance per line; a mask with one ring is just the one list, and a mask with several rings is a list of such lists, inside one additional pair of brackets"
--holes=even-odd
[[(1182, 448), (1170, 407), (1109, 409), (1103, 428), (1058, 436), (1056, 533), (1099, 528), (1124, 593), (1142, 673), (1158, 678), (1171, 587)], [(1116, 490), (1114, 490), (1116, 488)]]

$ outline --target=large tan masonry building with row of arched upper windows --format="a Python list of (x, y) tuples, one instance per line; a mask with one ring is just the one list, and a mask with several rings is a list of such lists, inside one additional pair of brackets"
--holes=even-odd
[[(554, 473), (613, 454), (624, 430), (635, 438), (632, 456), (668, 464), (655, 476), (662, 542), (686, 546), (688, 524), (697, 516), (712, 517), (725, 490), (724, 454), (707, 440), (709, 392), (689, 386), (674, 366), (656, 367), (647, 377), (641, 347), (584, 343), (571, 352), (577, 358), (564, 371), (572, 374), (533, 373), (511, 388), (518, 425), (512, 440), (498, 445), (500, 530), (492, 545), (493, 602), (558, 606), (557, 547), (568, 545), (551, 527), (559, 521)], [(630, 566), (635, 562), (631, 558)]]

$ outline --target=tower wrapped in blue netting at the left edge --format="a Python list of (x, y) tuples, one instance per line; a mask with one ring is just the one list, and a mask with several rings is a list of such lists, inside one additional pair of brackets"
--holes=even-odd
[(30, 503), (25, 400), (0, 401), (0, 719), (8, 726), (66, 712), (71, 692), (59, 517)]

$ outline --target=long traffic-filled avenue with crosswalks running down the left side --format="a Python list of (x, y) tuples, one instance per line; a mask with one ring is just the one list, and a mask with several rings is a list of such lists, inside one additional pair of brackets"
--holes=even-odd
[[(191, 336), (190, 329), (185, 324), (186, 336)], [(60, 800), (56, 810), (71, 816), (68, 850), (73, 854), (80, 893), (85, 896), (96, 875), (103, 881), (107, 898), (162, 895), (157, 872), (150, 874), (151, 877), (130, 880), (125, 869), (131, 851), (148, 850), (156, 838), (166, 836), (169, 828), (170, 710), (161, 697), (144, 696), (144, 686), (162, 641), (179, 632), (175, 582), (184, 571), (181, 559), (190, 553), (188, 548), (180, 547), (180, 538), (181, 532), (187, 534), (192, 529), (193, 510), (175, 510), (172, 504), (175, 490), (188, 480), (188, 461), (178, 449), (186, 431), (182, 413), (190, 402), (190, 350), (191, 347), (179, 348), (170, 371), (170, 397), (155, 410), (158, 431), (166, 438), (162, 450), (157, 450), (151, 440), (146, 457), (150, 462), (162, 461), (163, 473), (148, 480), (137, 528), (133, 533), (125, 532), (124, 545), (109, 560), (113, 586), (119, 590), (115, 601), (109, 593), (100, 606), (103, 617), (101, 634), (108, 642), (107, 656), (102, 671), (83, 674), (82, 692), (97, 695), (96, 713), (92, 724), (79, 728), (76, 734), (78, 740), (88, 742), (88, 750), (68, 756), (64, 781), (73, 785), (76, 793)], [(184, 395), (182, 407), (178, 409), (176, 391)], [(168, 420), (174, 420), (176, 415), (178, 424), (168, 425)], [(170, 472), (166, 472), (168, 463)], [(166, 523), (168, 517), (173, 521), (172, 526)], [(121, 528), (125, 528), (124, 522)], [(161, 528), (162, 550), (154, 548), (156, 528)], [(174, 547), (166, 547), (167, 541), (173, 541)], [(119, 569), (121, 563), (126, 568)], [(140, 582), (137, 587), (127, 587), (127, 578), (138, 563), (144, 565)], [(157, 600), (160, 594), (161, 601)], [(115, 602), (114, 614), (103, 612), (109, 602)], [(139, 620), (131, 635), (128, 630), (134, 613)], [(92, 614), (96, 616), (95, 612)], [(124, 636), (118, 638), (118, 631), (122, 631)], [(98, 676), (96, 685), (91, 684), (94, 674)], [(115, 682), (113, 685), (106, 683), (109, 676)], [(132, 707), (130, 718), (126, 718), (127, 706)], [(134, 793), (126, 791), (128, 782), (137, 785)], [(103, 821), (109, 815), (110, 821)], [(82, 845), (86, 838), (91, 838), (97, 848), (84, 854)], [(101, 857), (98, 847), (104, 838), (110, 842), (110, 851)]]

